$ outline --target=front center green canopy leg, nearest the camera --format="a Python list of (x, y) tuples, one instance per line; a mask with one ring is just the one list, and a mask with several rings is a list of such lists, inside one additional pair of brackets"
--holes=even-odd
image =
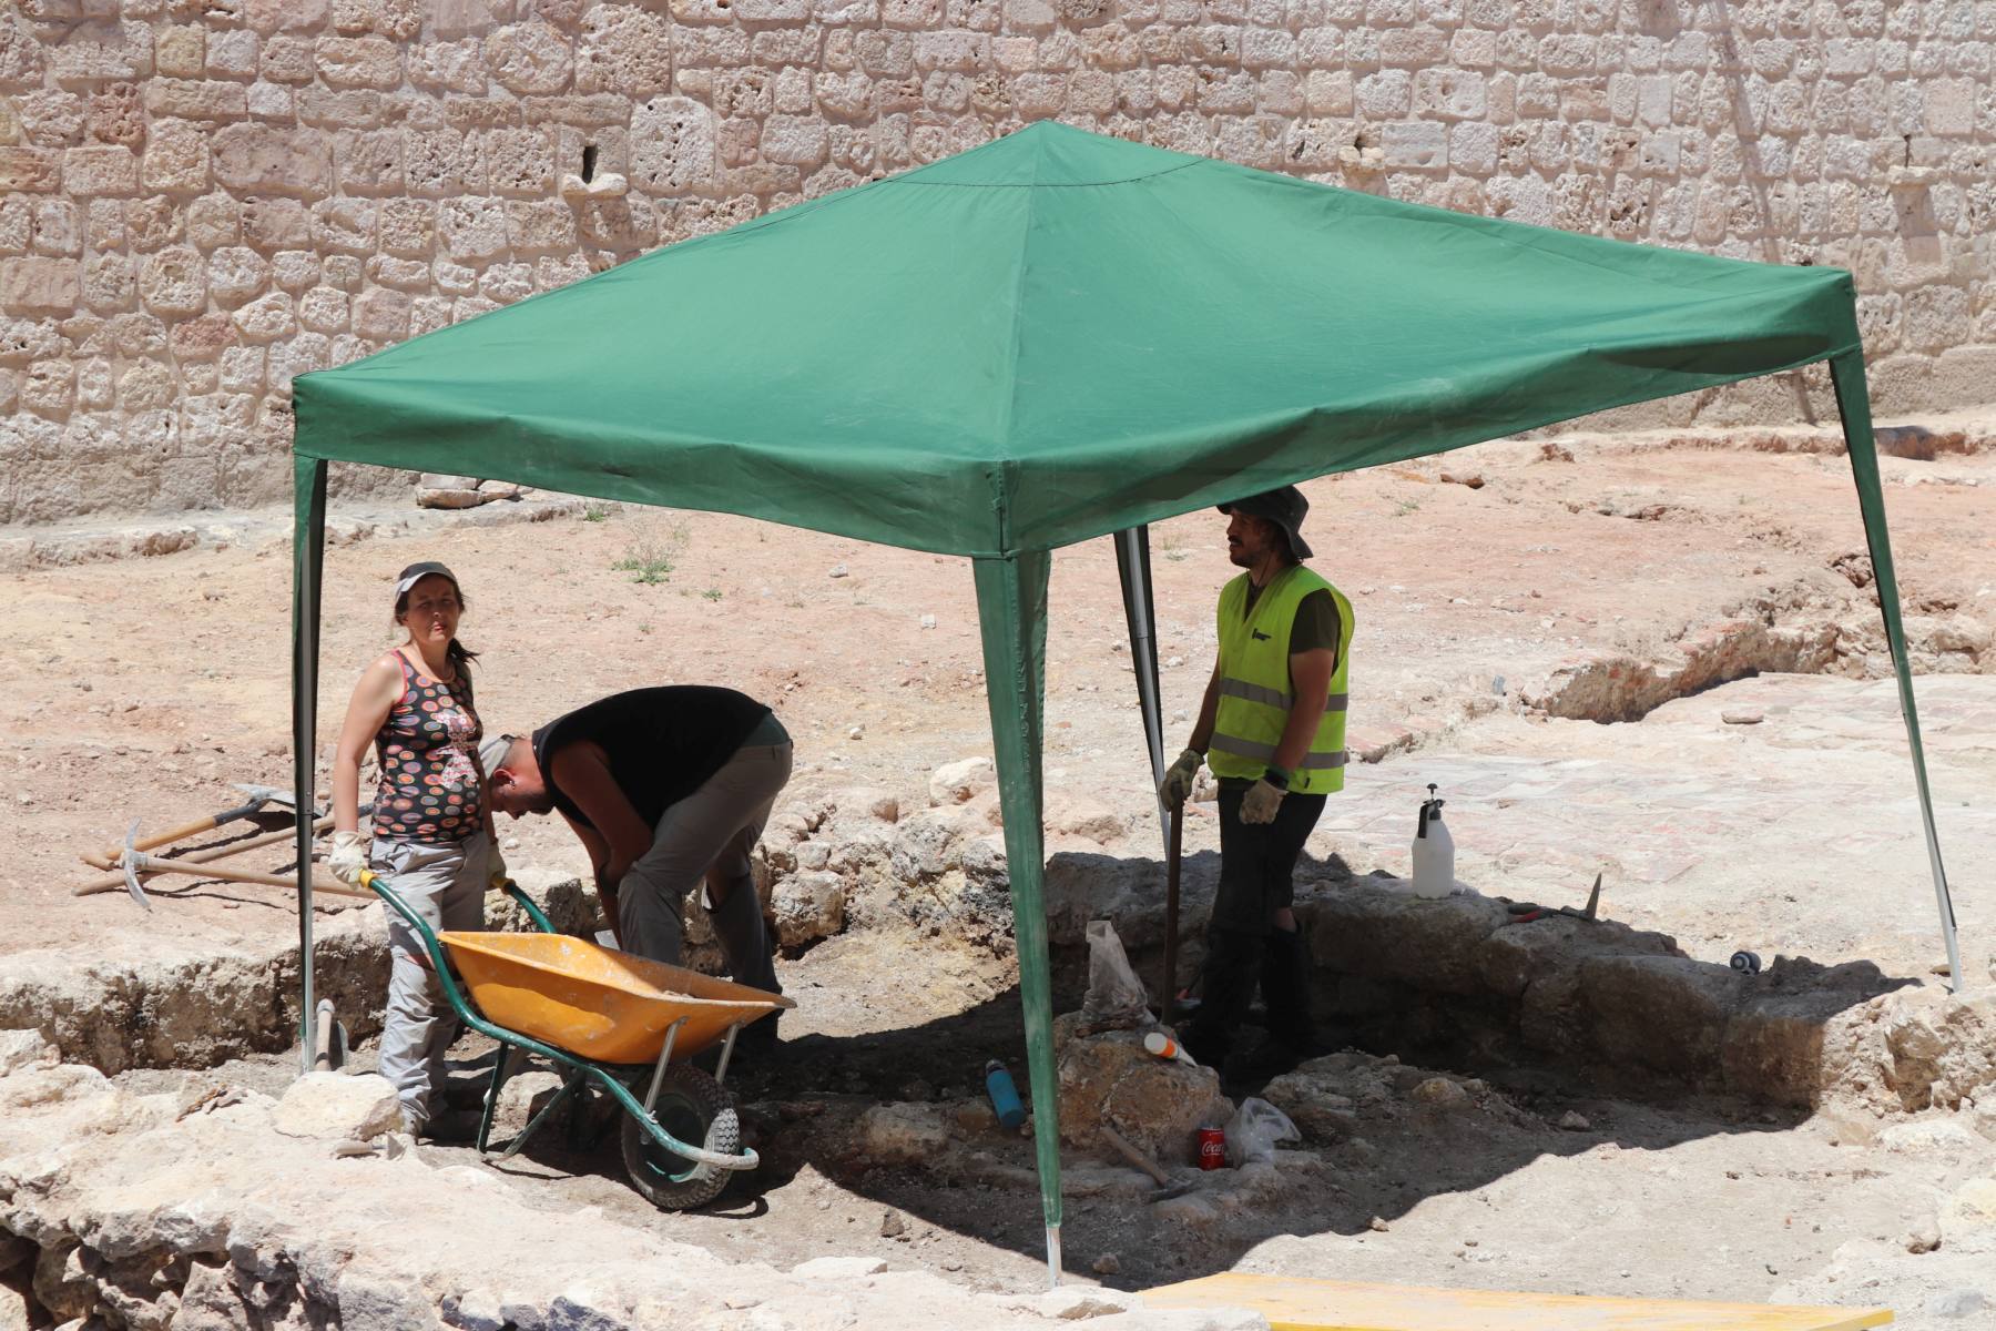
[(1040, 754), (1046, 738), (1046, 551), (976, 559), (984, 694), (998, 760), (1018, 996), (1032, 1082), (1032, 1145), (1046, 1219), (1046, 1271), (1060, 1283), (1060, 1086), (1054, 1076), (1054, 978), (1046, 948), (1046, 830)]

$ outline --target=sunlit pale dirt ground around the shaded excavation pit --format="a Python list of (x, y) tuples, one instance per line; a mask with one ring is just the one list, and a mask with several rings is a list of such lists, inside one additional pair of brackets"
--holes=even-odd
[[(1978, 886), (1996, 852), (1982, 808), (1996, 774), (1996, 682), (1982, 672), (1996, 653), (1948, 643), (1996, 623), (1996, 459), (1886, 459), (1886, 475), (1900, 587), (1922, 617), (1916, 641), (1948, 672), (1928, 676), (1922, 706), (1964, 956), (1986, 982), (1996, 908)], [(1611, 912), (1677, 934), (1695, 956), (1756, 944), (1932, 974), (1940, 946), (1896, 698), (1866, 682), (1884, 661), (1864, 639), (1876, 611), (1858, 587), (1864, 541), (1844, 459), (1567, 437), (1333, 477), (1305, 493), (1315, 565), (1359, 619), (1353, 748), (1377, 758), (1353, 770), (1315, 852), (1359, 872), (1405, 872), (1413, 806), (1439, 774), (1457, 792), (1457, 872), (1485, 890), (1567, 890), (1577, 904), (1589, 868), (1611, 864)], [(798, 800), (866, 784), (926, 802), (932, 768), (990, 748), (964, 561), (597, 505), (541, 523), (439, 515), (367, 537), (369, 521), (335, 501), (335, 529), (353, 539), (327, 551), (321, 764), (351, 680), (395, 641), (389, 579), (417, 559), (443, 559), (463, 583), (461, 637), (481, 653), (491, 726), (527, 730), (629, 686), (725, 682), (768, 700), (794, 734)], [(1152, 531), (1172, 746), (1212, 663), (1212, 603), (1232, 573), (1222, 527), (1202, 513)], [(0, 752), (10, 814), (0, 952), (82, 964), (162, 940), (200, 950), (293, 936), (291, 904), (263, 888), (162, 884), (148, 916), (122, 892), (70, 896), (90, 876), (76, 852), (120, 840), (132, 820), (170, 826), (232, 804), (228, 782), (289, 780), (285, 529), (251, 515), (232, 531), (226, 549), (0, 579), (10, 635), (0, 722), (12, 740)], [(619, 567), (633, 563), (659, 581), (633, 581)], [(1154, 856), (1108, 541), (1056, 557), (1050, 605), (1050, 818), (1108, 808), (1122, 826), (1110, 850)], [(1721, 647), (1701, 647), (1711, 643)], [(1701, 692), (1713, 670), (1794, 668), (1798, 651), (1812, 676)], [(1621, 682), (1607, 686), (1611, 674)], [(1743, 710), (1762, 720), (1719, 716)], [(1212, 828), (1194, 824), (1190, 842), (1214, 844)], [(507, 826), (505, 846), (513, 864), (587, 868), (553, 820)], [(750, 1072), (743, 1086), (770, 1159), (754, 1185), (711, 1213), (659, 1215), (623, 1183), (607, 1143), (583, 1155), (535, 1149), (501, 1167), (509, 1187), (741, 1259), (872, 1251), (982, 1287), (1030, 1285), (1038, 1205), (1018, 1181), (1030, 1141), (994, 1139), (984, 1175), (938, 1179), (854, 1173), (820, 1157), (808, 1131), (816, 1115), (878, 1100), (974, 1100), (982, 1060), (1016, 1054), (1008, 968), (942, 942), (848, 934), (780, 972), (800, 1008), (784, 1024), (788, 1070)], [(293, 1066), (271, 1056), (202, 1076), (281, 1086)], [(1870, 1129), (1828, 1115), (1762, 1121), (1703, 1100), (1607, 1102), (1531, 1070), (1499, 1090), (1515, 1115), (1467, 1135), (1417, 1115), (1381, 1121), (1363, 1149), (1287, 1161), (1287, 1183), (1259, 1203), (1236, 1197), (1246, 1219), (1216, 1225), (1154, 1215), (1128, 1179), (1098, 1179), (1088, 1193), (1096, 1175), (1084, 1169), (1068, 1203), (1070, 1269), (1120, 1287), (1240, 1263), (1764, 1299), (1824, 1271), (1844, 1243), (1894, 1243), (1964, 1171), (1988, 1171), (1986, 1149), (1882, 1151)], [(1569, 1109), (1589, 1127), (1557, 1129)], [(894, 1229), (888, 1211), (900, 1233), (882, 1233)], [(1096, 1265), (1106, 1255), (1114, 1261)]]

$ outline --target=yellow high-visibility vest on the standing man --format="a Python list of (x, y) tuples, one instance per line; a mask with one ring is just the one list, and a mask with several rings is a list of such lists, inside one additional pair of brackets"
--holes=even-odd
[(1337, 668), (1329, 702), (1309, 740), (1309, 752), (1289, 774), (1289, 790), (1327, 794), (1345, 788), (1345, 670), (1351, 665), (1351, 603), (1321, 577), (1293, 565), (1277, 573), (1248, 607), (1248, 575), (1220, 593), (1220, 712), (1206, 764), (1214, 776), (1253, 780), (1275, 762), (1275, 744), (1295, 702), (1289, 678), (1289, 627), (1295, 607), (1313, 591), (1337, 603)]

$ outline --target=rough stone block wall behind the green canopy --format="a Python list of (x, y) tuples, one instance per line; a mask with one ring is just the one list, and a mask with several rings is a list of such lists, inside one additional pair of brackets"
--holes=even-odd
[(1984, 401), (1992, 52), (1996, 0), (6, 0), (0, 523), (279, 501), (293, 375), (1042, 118), (1846, 265), (1880, 411)]

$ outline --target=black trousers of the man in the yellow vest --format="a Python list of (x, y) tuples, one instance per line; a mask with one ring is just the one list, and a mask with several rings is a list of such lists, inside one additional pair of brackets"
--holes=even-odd
[(1186, 1048), (1210, 1068), (1226, 1062), (1253, 1002), (1267, 1000), (1269, 1034), (1311, 1046), (1309, 956), (1301, 934), (1275, 926), (1295, 902), (1295, 862), (1323, 816), (1321, 794), (1285, 794), (1273, 822), (1242, 822), (1249, 780), (1220, 782), (1220, 892), (1206, 928), (1204, 1002), (1186, 1028)]

